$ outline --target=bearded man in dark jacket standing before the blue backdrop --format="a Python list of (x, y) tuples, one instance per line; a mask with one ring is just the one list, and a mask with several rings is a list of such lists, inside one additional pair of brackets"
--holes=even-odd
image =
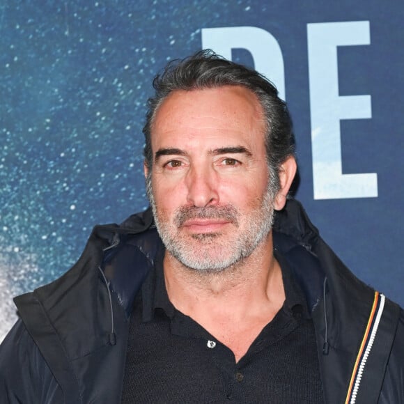
[(151, 212), (95, 227), (69, 272), (15, 299), (1, 403), (403, 403), (403, 312), (287, 198), (276, 89), (210, 51), (154, 86)]

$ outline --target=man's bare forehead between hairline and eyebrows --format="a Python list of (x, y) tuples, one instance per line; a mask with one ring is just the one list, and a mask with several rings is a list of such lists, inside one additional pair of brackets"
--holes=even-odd
[(264, 143), (265, 118), (257, 96), (243, 86), (176, 90), (157, 109), (151, 127), (156, 148), (194, 140)]

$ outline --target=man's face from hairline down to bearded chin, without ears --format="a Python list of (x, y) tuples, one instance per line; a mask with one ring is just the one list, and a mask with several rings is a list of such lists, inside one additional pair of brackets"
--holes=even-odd
[(175, 91), (158, 109), (148, 194), (166, 249), (183, 265), (219, 272), (267, 241), (264, 132), (261, 105), (240, 86)]

